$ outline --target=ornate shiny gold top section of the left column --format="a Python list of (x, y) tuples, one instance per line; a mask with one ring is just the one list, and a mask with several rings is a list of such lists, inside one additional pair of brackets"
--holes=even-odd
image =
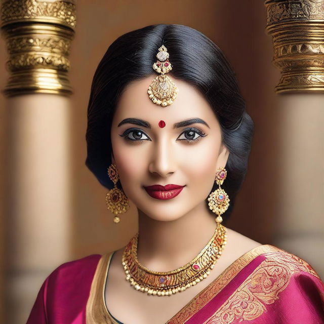
[(29, 93), (71, 94), (67, 77), (74, 36), (75, 3), (7, 0), (2, 4), (10, 72), (7, 96)]

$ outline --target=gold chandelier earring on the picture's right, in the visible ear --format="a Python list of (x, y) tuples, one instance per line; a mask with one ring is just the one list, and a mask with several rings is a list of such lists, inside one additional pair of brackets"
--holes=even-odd
[(218, 184), (218, 189), (212, 192), (208, 197), (208, 206), (209, 208), (217, 215), (215, 221), (216, 223), (221, 223), (223, 218), (221, 214), (225, 213), (229, 206), (228, 194), (221, 188), (227, 175), (225, 168), (220, 167), (216, 171), (215, 181)]

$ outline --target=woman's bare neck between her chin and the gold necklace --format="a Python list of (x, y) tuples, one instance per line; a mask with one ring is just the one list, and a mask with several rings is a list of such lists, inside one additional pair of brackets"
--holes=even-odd
[(174, 221), (157, 221), (139, 210), (138, 261), (152, 271), (175, 270), (196, 257), (215, 233), (205, 201)]

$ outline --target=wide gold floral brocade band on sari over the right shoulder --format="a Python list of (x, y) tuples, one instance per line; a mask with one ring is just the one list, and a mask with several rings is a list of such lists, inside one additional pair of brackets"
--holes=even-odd
[(319, 278), (304, 260), (282, 252), (265, 254), (266, 259), (236, 289), (230, 298), (204, 324), (230, 324), (234, 320), (251, 321), (274, 303), (289, 285), (294, 273), (310, 273)]

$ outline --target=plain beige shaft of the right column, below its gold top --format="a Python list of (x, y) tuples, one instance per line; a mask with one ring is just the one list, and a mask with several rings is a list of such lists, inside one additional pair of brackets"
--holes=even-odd
[(276, 244), (324, 278), (324, 94), (280, 98)]

